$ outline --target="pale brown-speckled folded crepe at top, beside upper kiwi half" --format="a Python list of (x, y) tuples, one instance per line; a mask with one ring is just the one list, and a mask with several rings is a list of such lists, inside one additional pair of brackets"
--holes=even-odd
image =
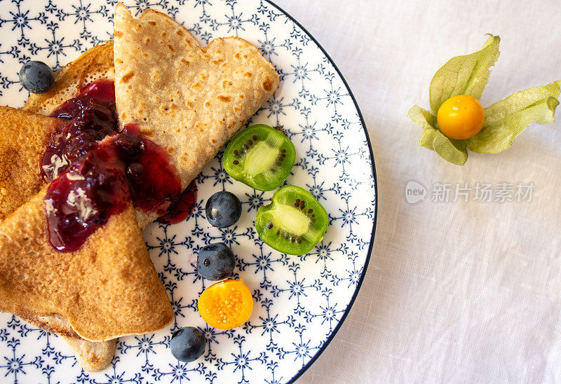
[[(251, 43), (215, 39), (201, 48), (163, 13), (140, 19), (117, 4), (115, 95), (119, 123), (165, 148), (185, 188), (273, 95), (278, 74)], [(144, 228), (154, 214), (136, 210)]]

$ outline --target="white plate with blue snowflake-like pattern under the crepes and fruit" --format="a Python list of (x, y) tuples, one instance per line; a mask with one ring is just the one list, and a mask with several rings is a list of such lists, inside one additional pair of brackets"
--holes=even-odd
[[(308, 188), (330, 226), (304, 256), (274, 251), (253, 228), (272, 192), (232, 180), (220, 153), (196, 179), (198, 203), (187, 221), (152, 224), (144, 238), (175, 310), (171, 327), (119, 339), (109, 368), (81, 369), (60, 338), (0, 314), (0, 381), (20, 383), (285, 383), (295, 380), (330, 342), (358, 293), (376, 221), (374, 159), (358, 106), (327, 53), (294, 19), (267, 0), (127, 0), (134, 13), (172, 15), (202, 42), (238, 35), (255, 43), (280, 74), (280, 87), (251, 123), (283, 125), (297, 149), (288, 184)], [(20, 107), (27, 92), (18, 71), (27, 60), (60, 68), (112, 36), (115, 0), (0, 0), (0, 104)], [(209, 228), (206, 199), (227, 190), (242, 200), (236, 226)], [(195, 272), (198, 249), (226, 242), (238, 257), (235, 277), (255, 307), (242, 327), (208, 327), (196, 300), (210, 284)], [(184, 364), (168, 350), (177, 327), (201, 327), (204, 358)]]

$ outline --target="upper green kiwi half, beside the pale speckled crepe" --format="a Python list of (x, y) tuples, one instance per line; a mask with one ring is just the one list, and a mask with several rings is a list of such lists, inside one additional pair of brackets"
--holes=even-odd
[(257, 124), (231, 139), (222, 163), (234, 179), (259, 191), (272, 191), (286, 180), (295, 158), (294, 144), (283, 131)]

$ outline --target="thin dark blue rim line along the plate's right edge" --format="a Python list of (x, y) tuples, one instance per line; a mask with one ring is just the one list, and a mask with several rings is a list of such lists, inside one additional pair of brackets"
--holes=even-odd
[(293, 18), (283, 8), (281, 8), (277, 4), (273, 3), (273, 1), (271, 1), (271, 0), (265, 0), (265, 1), (269, 4), (271, 4), (271, 6), (277, 8), (278, 11), (284, 13), (290, 20), (292, 20), (292, 22), (294, 22), (298, 27), (300, 27), (302, 29), (302, 31), (304, 31), (304, 33), (306, 35), (308, 35), (309, 38), (314, 43), (316, 43), (316, 46), (318, 46), (318, 48), (320, 48), (320, 50), (323, 52), (325, 57), (327, 57), (327, 60), (329, 60), (329, 62), (332, 64), (335, 71), (337, 71), (337, 74), (339, 75), (339, 77), (343, 81), (343, 83), (346, 87), (346, 90), (349, 92), (349, 95), (351, 95), (351, 100), (353, 100), (353, 103), (355, 104), (355, 108), (356, 108), (356, 111), (358, 113), (358, 118), (360, 118), (360, 123), (362, 123), (362, 125), (363, 125), (363, 130), (364, 130), (365, 136), (366, 136), (366, 143), (368, 145), (368, 151), (370, 151), (370, 161), (372, 162), (372, 177), (374, 177), (374, 222), (372, 224), (372, 236), (370, 237), (370, 245), (368, 246), (368, 252), (367, 252), (367, 255), (366, 255), (366, 260), (364, 262), (363, 273), (362, 273), (362, 275), (360, 275), (360, 279), (358, 280), (358, 284), (356, 284), (356, 289), (355, 289), (355, 292), (353, 293), (353, 297), (351, 298), (351, 301), (349, 301), (349, 305), (346, 307), (346, 310), (343, 313), (343, 316), (341, 317), (341, 320), (339, 320), (339, 323), (337, 323), (337, 326), (333, 329), (330, 336), (327, 337), (327, 340), (323, 343), (323, 345), (321, 345), (318, 352), (316, 352), (316, 355), (313, 355), (313, 357), (310, 359), (310, 361), (305, 366), (303, 366), (302, 369), (300, 369), (295, 376), (293, 376), (290, 380), (288, 380), (287, 383), (292, 384), (300, 376), (302, 376), (302, 374), (304, 372), (306, 372), (314, 362), (316, 362), (316, 360), (318, 359), (318, 357), (320, 357), (320, 355), (323, 353), (323, 351), (325, 351), (327, 349), (327, 346), (331, 343), (331, 341), (333, 340), (333, 338), (335, 337), (335, 335), (337, 334), (337, 332), (339, 331), (339, 329), (343, 325), (347, 315), (349, 315), (349, 313), (351, 312), (351, 308), (353, 307), (353, 304), (355, 303), (356, 297), (358, 296), (358, 292), (360, 291), (360, 287), (363, 285), (363, 281), (364, 281), (364, 278), (366, 276), (366, 271), (368, 269), (368, 263), (370, 263), (370, 256), (372, 256), (372, 247), (374, 245), (374, 235), (376, 234), (376, 224), (377, 224), (377, 219), (378, 219), (378, 180), (376, 178), (376, 165), (374, 164), (374, 153), (372, 152), (372, 144), (370, 143), (370, 137), (368, 136), (368, 130), (366, 128), (366, 123), (364, 121), (363, 114), (362, 114), (362, 112), (360, 112), (360, 108), (358, 107), (358, 103), (356, 102), (355, 95), (353, 95), (353, 91), (349, 87), (349, 84), (346, 82), (343, 74), (339, 70), (339, 67), (337, 67), (337, 64), (334, 63), (331, 56), (327, 53), (327, 51), (323, 48), (323, 46), (321, 46), (321, 44), (316, 40), (316, 38), (313, 37), (310, 32), (308, 32), (308, 29), (304, 28), (304, 26), (302, 24), (300, 24), (295, 18)]

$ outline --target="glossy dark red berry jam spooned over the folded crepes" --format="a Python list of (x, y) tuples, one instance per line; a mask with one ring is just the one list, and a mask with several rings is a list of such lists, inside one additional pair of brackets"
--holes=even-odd
[(79, 249), (130, 198), (161, 215), (181, 193), (167, 152), (135, 125), (117, 133), (114, 97), (111, 81), (96, 81), (53, 114), (69, 119), (41, 164), (46, 180), (54, 179), (45, 197), (49, 241), (62, 252)]

